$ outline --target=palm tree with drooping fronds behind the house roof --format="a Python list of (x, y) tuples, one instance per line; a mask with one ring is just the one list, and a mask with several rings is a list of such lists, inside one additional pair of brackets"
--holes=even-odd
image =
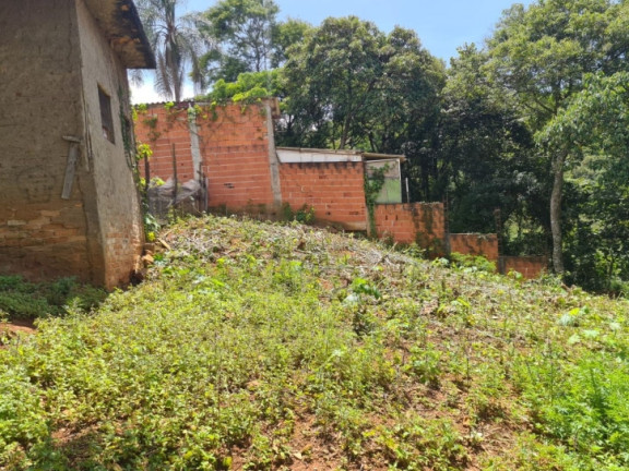
[(195, 88), (202, 89), (205, 82), (199, 58), (212, 49), (212, 43), (199, 28), (206, 20), (198, 13), (178, 17), (176, 9), (182, 0), (137, 0), (137, 3), (157, 62), (155, 90), (180, 101), (188, 70)]

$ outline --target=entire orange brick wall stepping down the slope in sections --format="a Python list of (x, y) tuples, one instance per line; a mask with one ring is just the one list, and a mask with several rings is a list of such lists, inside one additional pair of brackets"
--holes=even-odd
[[(151, 176), (173, 176), (176, 146), (180, 183), (198, 178), (192, 164), (187, 106), (167, 110), (150, 106), (139, 113), (138, 141), (153, 148)], [(211, 208), (272, 215), (273, 192), (269, 162), (266, 116), (262, 106), (238, 105), (203, 108), (197, 113), (202, 170), (207, 178)], [(141, 169), (144, 174), (143, 168)], [(349, 230), (366, 230), (364, 162), (281, 164), (282, 200), (294, 210), (314, 209), (320, 221), (336, 222)], [(431, 256), (452, 252), (498, 259), (496, 234), (450, 234), (447, 238), (441, 203), (381, 204), (375, 208), (379, 238), (413, 243)]]

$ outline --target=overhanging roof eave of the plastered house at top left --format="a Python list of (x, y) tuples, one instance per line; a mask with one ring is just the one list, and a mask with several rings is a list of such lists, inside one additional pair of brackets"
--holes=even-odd
[(155, 69), (155, 56), (132, 0), (85, 0), (85, 4), (127, 69)]

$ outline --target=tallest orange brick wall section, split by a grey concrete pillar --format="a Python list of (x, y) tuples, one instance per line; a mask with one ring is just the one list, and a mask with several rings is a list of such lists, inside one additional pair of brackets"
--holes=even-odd
[[(210, 207), (241, 210), (273, 204), (265, 120), (264, 108), (258, 105), (201, 107), (197, 129)], [(178, 181), (198, 178), (187, 109), (150, 106), (146, 112), (139, 113), (135, 126), (138, 141), (153, 148), (152, 177), (173, 177), (175, 144)], [(141, 174), (144, 176), (142, 164)]]

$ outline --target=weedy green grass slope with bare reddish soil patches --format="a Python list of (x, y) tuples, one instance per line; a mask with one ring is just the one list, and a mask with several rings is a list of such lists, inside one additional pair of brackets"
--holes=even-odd
[(0, 468), (621, 470), (628, 303), (206, 217), (0, 350)]

